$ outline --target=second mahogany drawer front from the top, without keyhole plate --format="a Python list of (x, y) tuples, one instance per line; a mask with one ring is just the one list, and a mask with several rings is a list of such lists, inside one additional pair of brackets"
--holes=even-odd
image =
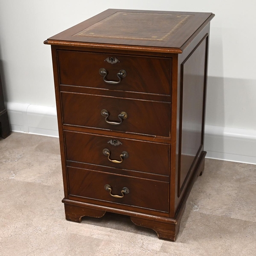
[[(170, 103), (61, 92), (63, 124), (137, 133), (170, 136)], [(101, 114), (102, 110), (109, 113)], [(119, 119), (125, 112), (126, 119)], [(111, 124), (115, 122), (120, 124)]]

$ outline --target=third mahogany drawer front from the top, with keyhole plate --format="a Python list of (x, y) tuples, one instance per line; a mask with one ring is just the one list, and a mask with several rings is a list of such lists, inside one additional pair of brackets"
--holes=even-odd
[[(169, 176), (169, 144), (70, 131), (65, 131), (64, 135), (68, 161)], [(110, 155), (103, 154), (105, 148)], [(129, 157), (121, 158), (122, 152), (127, 152)], [(122, 162), (115, 163), (108, 158)]]

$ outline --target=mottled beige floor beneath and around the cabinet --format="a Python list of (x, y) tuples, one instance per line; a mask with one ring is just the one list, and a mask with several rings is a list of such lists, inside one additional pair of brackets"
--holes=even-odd
[(206, 159), (176, 242), (106, 214), (65, 220), (57, 138), (0, 138), (0, 255), (256, 255), (256, 165)]

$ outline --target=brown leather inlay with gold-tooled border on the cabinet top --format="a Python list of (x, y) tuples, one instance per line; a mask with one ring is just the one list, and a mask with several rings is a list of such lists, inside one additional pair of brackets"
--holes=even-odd
[[(166, 41), (193, 16), (116, 12), (73, 36)], [(148, 30), (148, 25), (151, 26), (151, 30)]]

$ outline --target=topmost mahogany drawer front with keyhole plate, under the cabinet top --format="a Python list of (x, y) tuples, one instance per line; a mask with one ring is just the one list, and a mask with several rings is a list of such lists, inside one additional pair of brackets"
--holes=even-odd
[[(57, 52), (60, 84), (129, 92), (170, 95), (171, 65), (170, 58), (139, 57), (113, 54), (99, 54), (80, 51)], [(117, 63), (106, 60), (117, 59)], [(106, 70), (106, 80), (99, 70)], [(120, 77), (120, 70), (126, 72)]]

